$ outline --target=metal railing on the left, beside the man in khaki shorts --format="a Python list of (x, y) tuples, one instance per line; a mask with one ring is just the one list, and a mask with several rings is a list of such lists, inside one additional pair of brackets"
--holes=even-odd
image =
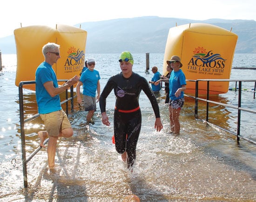
[[(58, 82), (66, 82), (67, 80), (58, 80)], [(24, 187), (27, 187), (27, 163), (34, 157), (34, 155), (40, 151), (42, 147), (38, 147), (32, 154), (26, 158), (26, 138), (25, 138), (25, 123), (32, 121), (40, 116), (35, 114), (26, 120), (24, 120), (24, 105), (23, 105), (23, 86), (28, 84), (35, 84), (35, 81), (20, 82), (19, 84), (19, 104), (20, 104), (20, 137), (21, 137), (21, 152), (22, 152), (22, 167), (23, 167), (23, 183)], [(66, 114), (68, 115), (68, 101), (71, 102), (71, 112), (74, 110), (74, 87), (70, 87), (70, 97), (68, 97), (68, 90), (66, 89), (66, 99), (61, 101), (61, 105), (66, 103)], [(45, 140), (44, 145), (48, 142)]]

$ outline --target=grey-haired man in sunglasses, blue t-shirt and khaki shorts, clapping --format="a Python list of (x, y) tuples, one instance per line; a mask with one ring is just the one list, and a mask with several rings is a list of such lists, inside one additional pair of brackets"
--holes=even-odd
[(57, 63), (60, 56), (60, 45), (54, 43), (45, 44), (42, 48), (45, 61), (42, 62), (35, 72), (35, 95), (38, 105), (38, 112), (44, 121), (46, 131), (38, 132), (40, 146), (49, 137), (47, 146), (48, 166), (54, 168), (56, 145), (59, 137), (71, 137), (73, 129), (68, 120), (67, 114), (61, 108), (59, 94), (78, 82), (79, 77), (74, 76), (64, 85), (58, 85), (56, 74), (52, 65)]

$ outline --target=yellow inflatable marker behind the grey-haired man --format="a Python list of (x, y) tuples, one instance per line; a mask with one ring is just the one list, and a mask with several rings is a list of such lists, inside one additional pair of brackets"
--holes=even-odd
[[(35, 71), (44, 61), (43, 45), (48, 42), (60, 44), (61, 58), (53, 68), (57, 79), (69, 79), (79, 75), (85, 63), (87, 32), (69, 25), (34, 25), (14, 30), (17, 50), (17, 71), (15, 85), (21, 81), (34, 81)], [(35, 90), (35, 85), (24, 88)]]

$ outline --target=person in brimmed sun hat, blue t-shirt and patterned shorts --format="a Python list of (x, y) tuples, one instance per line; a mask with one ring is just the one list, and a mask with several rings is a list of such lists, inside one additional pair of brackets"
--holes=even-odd
[(178, 56), (172, 56), (170, 60), (166, 61), (173, 69), (169, 78), (169, 118), (171, 132), (180, 134), (179, 116), (184, 105), (184, 90), (186, 90), (186, 77), (182, 70), (181, 59)]

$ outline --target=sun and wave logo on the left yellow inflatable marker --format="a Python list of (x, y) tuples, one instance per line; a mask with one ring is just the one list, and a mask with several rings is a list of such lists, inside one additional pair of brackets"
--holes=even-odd
[(76, 48), (70, 47), (67, 51), (67, 59), (64, 64), (65, 72), (78, 72), (84, 67), (85, 52), (83, 50), (76, 50)]

